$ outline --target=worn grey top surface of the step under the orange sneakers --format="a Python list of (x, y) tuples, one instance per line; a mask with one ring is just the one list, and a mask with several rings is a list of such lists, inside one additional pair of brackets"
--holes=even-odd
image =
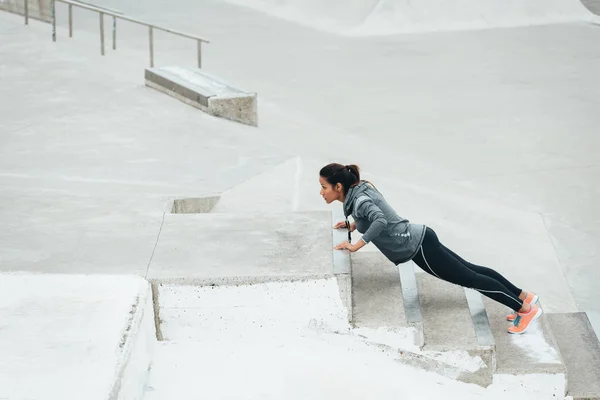
[(564, 374), (565, 369), (552, 332), (542, 315), (523, 335), (507, 332), (512, 312), (503, 304), (484, 298), (492, 333), (496, 343), (496, 373), (498, 374)]

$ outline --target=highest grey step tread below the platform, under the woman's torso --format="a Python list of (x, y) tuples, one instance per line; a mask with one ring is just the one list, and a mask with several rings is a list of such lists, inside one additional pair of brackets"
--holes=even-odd
[(406, 327), (398, 267), (378, 252), (352, 254), (353, 323), (358, 327)]

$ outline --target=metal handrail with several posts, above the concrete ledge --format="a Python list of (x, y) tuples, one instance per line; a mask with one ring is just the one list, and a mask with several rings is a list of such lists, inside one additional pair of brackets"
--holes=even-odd
[[(113, 18), (112, 26), (112, 39), (113, 39), (113, 50), (117, 48), (117, 18), (124, 21), (129, 21), (134, 24), (144, 25), (148, 27), (148, 40), (150, 47), (150, 67), (154, 67), (154, 29), (172, 33), (174, 35), (182, 36), (185, 38), (196, 40), (198, 43), (198, 68), (202, 67), (202, 43), (210, 43), (207, 39), (200, 36), (190, 35), (188, 33), (179, 32), (173, 29), (163, 28), (157, 25), (149, 24), (139, 19), (125, 16), (121, 11), (111, 10), (109, 8), (99, 7), (84, 3), (81, 1), (72, 0), (51, 0), (50, 2), (50, 13), (52, 18), (52, 41), (56, 42), (56, 2), (65, 3), (69, 5), (69, 37), (73, 37), (73, 6), (83, 8), (90, 11), (95, 11), (100, 16), (100, 54), (104, 55), (104, 15), (111, 16)], [(25, 24), (29, 21), (29, 0), (25, 0)]]

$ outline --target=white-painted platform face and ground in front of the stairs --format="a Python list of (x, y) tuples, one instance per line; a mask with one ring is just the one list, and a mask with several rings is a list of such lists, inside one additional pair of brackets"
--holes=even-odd
[[(484, 389), (397, 363), (397, 350), (413, 349), (410, 335), (349, 330), (332, 280), (169, 285), (160, 298), (163, 333), (171, 341), (157, 349), (146, 400), (544, 399), (549, 393), (544, 377)], [(461, 352), (423, 355), (470, 371), (481, 366)]]

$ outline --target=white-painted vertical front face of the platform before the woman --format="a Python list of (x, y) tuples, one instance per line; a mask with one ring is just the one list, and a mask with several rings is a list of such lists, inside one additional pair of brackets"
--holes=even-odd
[(335, 278), (243, 286), (159, 287), (165, 340), (237, 340), (307, 328), (348, 332)]

